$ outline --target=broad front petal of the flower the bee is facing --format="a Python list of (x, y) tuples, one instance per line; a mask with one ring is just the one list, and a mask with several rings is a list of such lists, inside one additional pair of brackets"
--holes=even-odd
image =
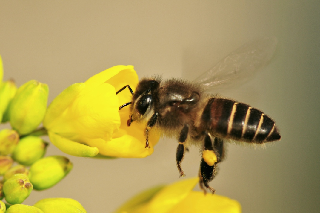
[[(75, 98), (68, 97), (66, 93), (69, 89), (67, 88), (67, 92), (62, 92), (64, 94), (61, 99), (59, 96), (55, 99), (61, 103), (64, 101), (63, 97), (68, 97), (66, 99), (69, 104), (66, 108), (58, 106), (64, 111), (55, 118), (52, 116), (57, 113), (52, 113), (52, 115), (49, 113), (48, 117), (52, 120), (45, 119), (45, 127), (77, 142), (83, 142), (86, 138), (111, 140), (112, 134), (120, 126), (119, 103), (114, 87), (107, 83), (94, 88), (87, 87), (82, 83), (72, 85), (72, 87), (75, 86), (77, 86), (75, 90), (70, 89), (70, 93), (72, 96), (76, 96)], [(80, 87), (81, 89), (79, 89)], [(49, 106), (49, 108), (57, 105), (54, 102), (52, 104), (52, 107)], [(62, 105), (65, 104), (62, 103)]]

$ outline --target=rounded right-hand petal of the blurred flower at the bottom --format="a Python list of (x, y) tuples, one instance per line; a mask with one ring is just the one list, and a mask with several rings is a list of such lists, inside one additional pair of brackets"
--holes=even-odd
[(191, 192), (168, 213), (241, 213), (241, 205), (230, 198), (203, 192)]

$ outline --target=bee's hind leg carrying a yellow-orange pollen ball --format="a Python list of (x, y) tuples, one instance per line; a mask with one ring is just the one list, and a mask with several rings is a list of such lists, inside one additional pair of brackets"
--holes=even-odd
[[(207, 151), (208, 150), (208, 151)], [(209, 182), (218, 173), (218, 163), (223, 157), (223, 141), (220, 138), (214, 138), (213, 146), (211, 141), (211, 135), (206, 132), (204, 138), (204, 151), (200, 163), (199, 170), (199, 185), (200, 188), (206, 193), (206, 189), (209, 189), (212, 194), (215, 190), (209, 186)]]

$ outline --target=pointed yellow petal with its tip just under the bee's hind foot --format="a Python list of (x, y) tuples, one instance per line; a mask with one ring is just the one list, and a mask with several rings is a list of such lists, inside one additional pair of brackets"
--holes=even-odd
[(189, 178), (165, 187), (151, 200), (149, 212), (167, 213), (185, 199), (198, 182), (199, 178)]

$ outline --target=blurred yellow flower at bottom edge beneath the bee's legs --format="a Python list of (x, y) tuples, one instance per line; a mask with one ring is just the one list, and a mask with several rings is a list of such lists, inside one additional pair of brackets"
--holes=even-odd
[(240, 213), (238, 201), (230, 198), (192, 191), (199, 178), (158, 186), (138, 194), (116, 213)]

